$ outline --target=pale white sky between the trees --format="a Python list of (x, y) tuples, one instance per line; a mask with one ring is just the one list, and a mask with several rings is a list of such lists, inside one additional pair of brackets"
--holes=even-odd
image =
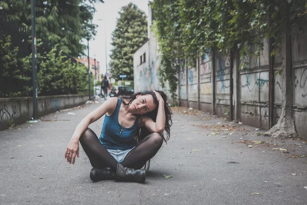
[[(94, 58), (94, 55), (96, 55), (96, 60), (99, 61), (101, 74), (105, 73), (104, 32), (106, 32), (107, 64), (109, 64), (109, 54), (111, 54), (112, 49), (111, 34), (116, 27), (116, 20), (119, 18), (118, 12), (121, 10), (121, 7), (128, 5), (130, 2), (137, 5), (138, 8), (144, 11), (146, 16), (148, 16), (148, 0), (104, 0), (104, 4), (95, 4), (95, 9), (97, 11), (94, 15), (93, 23), (98, 25), (98, 28), (96, 29), (97, 34), (95, 39), (90, 41), (90, 57)], [(84, 42), (84, 44), (86, 43)], [(87, 50), (84, 53), (87, 54)], [(107, 67), (109, 69), (108, 65)]]

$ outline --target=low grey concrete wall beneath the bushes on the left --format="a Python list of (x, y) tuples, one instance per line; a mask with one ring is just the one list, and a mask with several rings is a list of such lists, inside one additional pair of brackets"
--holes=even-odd
[[(38, 114), (46, 115), (82, 105), (88, 95), (55, 95), (38, 97)], [(32, 97), (0, 98), (0, 130), (30, 120), (33, 116)]]

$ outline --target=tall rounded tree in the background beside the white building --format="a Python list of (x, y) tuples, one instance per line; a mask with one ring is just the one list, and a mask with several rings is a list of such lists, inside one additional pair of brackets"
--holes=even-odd
[(111, 74), (133, 80), (133, 54), (148, 40), (146, 15), (133, 3), (122, 7), (119, 15), (112, 32)]

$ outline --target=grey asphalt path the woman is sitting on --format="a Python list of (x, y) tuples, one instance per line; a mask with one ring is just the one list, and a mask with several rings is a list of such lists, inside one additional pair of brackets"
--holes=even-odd
[[(304, 141), (273, 141), (188, 109), (174, 109), (171, 138), (151, 160), (144, 184), (92, 182), (83, 150), (75, 165), (64, 151), (78, 122), (100, 105), (0, 131), (0, 204), (306, 204)], [(102, 122), (90, 126), (97, 135)]]

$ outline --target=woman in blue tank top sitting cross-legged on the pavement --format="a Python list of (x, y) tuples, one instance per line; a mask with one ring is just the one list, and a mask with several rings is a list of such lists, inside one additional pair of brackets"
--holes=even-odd
[[(87, 127), (104, 114), (98, 139)], [(149, 168), (149, 160), (161, 148), (163, 140), (169, 139), (171, 114), (167, 96), (162, 91), (111, 97), (81, 120), (65, 151), (65, 158), (75, 163), (80, 141), (93, 166), (90, 172), (93, 181), (117, 178), (144, 182), (146, 172), (142, 168), (147, 161)]]

